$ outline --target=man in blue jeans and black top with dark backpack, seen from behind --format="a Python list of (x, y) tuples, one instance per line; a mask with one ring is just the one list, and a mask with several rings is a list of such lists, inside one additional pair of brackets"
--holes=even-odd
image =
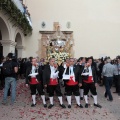
[(3, 96), (3, 104), (7, 104), (8, 90), (11, 86), (11, 104), (14, 104), (16, 99), (16, 80), (18, 72), (18, 64), (13, 61), (14, 54), (8, 54), (8, 60), (3, 63), (3, 74), (5, 76), (5, 88)]

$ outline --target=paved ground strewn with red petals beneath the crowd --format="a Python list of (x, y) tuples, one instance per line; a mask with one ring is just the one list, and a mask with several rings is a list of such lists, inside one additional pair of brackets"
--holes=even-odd
[[(120, 120), (120, 97), (113, 94), (113, 102), (108, 102), (103, 94), (104, 87), (97, 88), (98, 102), (102, 108), (93, 106), (93, 98), (89, 97), (90, 106), (88, 109), (80, 109), (76, 106), (74, 96), (72, 98), (72, 108), (62, 109), (59, 107), (57, 97), (54, 99), (55, 106), (52, 109), (44, 108), (41, 99), (37, 97), (37, 105), (31, 108), (30, 90), (25, 87), (24, 80), (19, 80), (17, 84), (17, 101), (11, 106), (10, 97), (8, 105), (0, 104), (0, 120)], [(112, 92), (115, 91), (113, 87)], [(0, 99), (2, 101), (3, 91), (0, 91)], [(49, 104), (49, 101), (47, 101)], [(64, 98), (64, 103), (67, 102)], [(82, 105), (85, 105), (84, 100)]]

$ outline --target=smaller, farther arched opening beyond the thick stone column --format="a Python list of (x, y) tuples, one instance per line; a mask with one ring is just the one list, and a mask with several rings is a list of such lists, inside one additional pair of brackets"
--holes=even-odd
[(17, 43), (15, 48), (15, 55), (17, 58), (22, 57), (22, 37), (20, 33), (16, 34), (15, 42)]

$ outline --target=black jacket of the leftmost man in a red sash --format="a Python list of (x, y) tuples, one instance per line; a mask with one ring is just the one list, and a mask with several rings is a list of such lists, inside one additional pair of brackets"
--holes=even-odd
[[(31, 73), (31, 70), (32, 70), (32, 65), (30, 65), (26, 70), (26, 84), (28, 84), (30, 82), (31, 77), (28, 75)], [(42, 81), (42, 68), (39, 66), (35, 72), (36, 73), (38, 72), (38, 75), (36, 76), (37, 80), (39, 82)]]

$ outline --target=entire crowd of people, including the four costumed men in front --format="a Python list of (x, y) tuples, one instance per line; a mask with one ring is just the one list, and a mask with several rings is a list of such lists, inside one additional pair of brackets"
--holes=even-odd
[[(115, 85), (117, 93), (120, 95), (120, 56), (114, 60), (110, 57), (93, 59), (93, 57), (80, 57), (79, 59), (67, 58), (61, 65), (58, 65), (54, 58), (48, 63), (38, 57), (16, 59), (14, 54), (9, 53), (6, 58), (0, 61), (0, 89), (4, 90), (3, 104), (7, 104), (7, 96), (11, 95), (11, 104), (16, 100), (17, 80), (25, 79), (26, 87), (30, 88), (32, 104), (36, 106), (36, 94), (41, 96), (43, 106), (47, 107), (48, 97), (51, 109), (54, 106), (53, 97), (57, 95), (60, 107), (66, 108), (63, 101), (63, 94), (71, 108), (71, 96), (75, 96), (76, 104), (79, 108), (88, 108), (88, 94), (94, 100), (94, 106), (101, 108), (97, 100), (97, 86), (105, 86), (104, 97), (108, 101), (113, 101), (111, 87)], [(64, 88), (62, 93), (61, 88)], [(48, 96), (46, 95), (46, 92)], [(56, 94), (54, 94), (56, 93)], [(81, 104), (85, 100), (85, 106)]]

